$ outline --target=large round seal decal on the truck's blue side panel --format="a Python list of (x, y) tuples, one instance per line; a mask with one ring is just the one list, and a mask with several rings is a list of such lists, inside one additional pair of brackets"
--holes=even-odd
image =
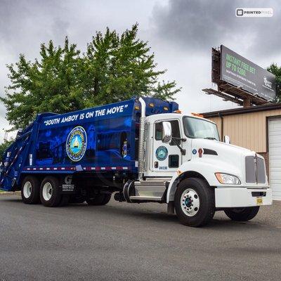
[(66, 152), (72, 161), (81, 160), (87, 148), (87, 134), (83, 127), (77, 126), (68, 134)]

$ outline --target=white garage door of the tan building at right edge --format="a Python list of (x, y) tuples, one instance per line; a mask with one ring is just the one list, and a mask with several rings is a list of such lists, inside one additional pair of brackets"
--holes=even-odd
[(269, 120), (268, 134), (270, 187), (273, 200), (281, 200), (281, 118)]

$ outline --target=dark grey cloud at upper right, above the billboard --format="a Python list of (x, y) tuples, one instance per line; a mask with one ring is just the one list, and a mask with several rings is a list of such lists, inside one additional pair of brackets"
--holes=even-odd
[[(233, 46), (237, 52), (276, 55), (280, 52), (280, 3), (249, 0), (176, 0), (153, 11), (155, 36), (186, 51), (202, 52), (211, 46)], [(272, 18), (237, 18), (235, 8), (273, 8)]]

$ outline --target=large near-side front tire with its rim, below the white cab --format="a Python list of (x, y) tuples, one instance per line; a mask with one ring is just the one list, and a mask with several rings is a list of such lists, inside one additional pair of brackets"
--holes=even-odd
[(185, 226), (204, 226), (214, 217), (214, 189), (201, 178), (186, 178), (178, 184), (174, 205)]

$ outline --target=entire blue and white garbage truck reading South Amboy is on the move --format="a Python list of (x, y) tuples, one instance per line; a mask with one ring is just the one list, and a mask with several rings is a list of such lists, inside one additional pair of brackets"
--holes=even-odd
[[(227, 139), (227, 138), (226, 138)], [(249, 221), (272, 204), (265, 160), (220, 140), (214, 122), (178, 104), (133, 98), (66, 114), (42, 113), (4, 152), (0, 189), (25, 204), (167, 204), (186, 226), (216, 211)]]

